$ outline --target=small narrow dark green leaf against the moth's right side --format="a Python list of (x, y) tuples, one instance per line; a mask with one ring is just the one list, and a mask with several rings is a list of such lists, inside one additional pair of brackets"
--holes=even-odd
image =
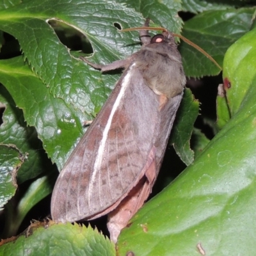
[(190, 149), (189, 141), (198, 113), (199, 102), (194, 99), (191, 90), (186, 89), (170, 137), (170, 143), (186, 165), (194, 160), (194, 152)]

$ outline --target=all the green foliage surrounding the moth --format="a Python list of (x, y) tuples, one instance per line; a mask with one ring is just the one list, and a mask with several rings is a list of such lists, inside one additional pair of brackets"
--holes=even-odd
[[(118, 28), (142, 26), (150, 17), (170, 31), (182, 31), (223, 67), (223, 93), (217, 97), (215, 123), (216, 116), (204, 111), (210, 85), (192, 88), (195, 95), (203, 94), (196, 125), (206, 124), (212, 138), (193, 128), (199, 104), (186, 90), (170, 143), (188, 167), (132, 218), (116, 249), (119, 255), (254, 255), (256, 9), (241, 2), (1, 1), (1, 237), (17, 235), (28, 212), (51, 194), (57, 169), (85, 132), (84, 121), (97, 115), (120, 77), (100, 74), (79, 55), (93, 51), (90, 61), (103, 64), (129, 56), (140, 49), (138, 32)], [(181, 11), (186, 21), (177, 15)], [(220, 73), (189, 45), (181, 42), (179, 49), (188, 77)], [(167, 164), (164, 179), (172, 180), (170, 170), (179, 166)], [(164, 182), (157, 183), (163, 189)], [(32, 218), (49, 211), (44, 214)], [(0, 254), (37, 255), (40, 246), (49, 255), (115, 255), (114, 244), (90, 226), (52, 221), (32, 223), (20, 237), (3, 240)]]

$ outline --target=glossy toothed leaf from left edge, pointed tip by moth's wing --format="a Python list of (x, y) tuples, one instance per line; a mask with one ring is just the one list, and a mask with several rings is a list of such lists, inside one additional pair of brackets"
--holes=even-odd
[(28, 124), (36, 127), (52, 161), (61, 168), (83, 134), (79, 113), (74, 114), (72, 106), (54, 98), (21, 57), (0, 61), (0, 79)]

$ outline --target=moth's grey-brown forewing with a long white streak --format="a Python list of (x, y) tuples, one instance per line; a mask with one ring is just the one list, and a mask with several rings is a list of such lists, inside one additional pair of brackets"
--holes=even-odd
[(104, 210), (111, 211), (111, 205), (124, 198), (143, 176), (152, 143), (148, 134), (155, 135), (154, 115), (140, 109), (141, 102), (147, 109), (157, 108), (157, 100), (143, 99), (147, 93), (152, 90), (143, 86), (143, 77), (131, 65), (56, 182), (51, 206), (54, 220), (77, 221), (106, 214)]

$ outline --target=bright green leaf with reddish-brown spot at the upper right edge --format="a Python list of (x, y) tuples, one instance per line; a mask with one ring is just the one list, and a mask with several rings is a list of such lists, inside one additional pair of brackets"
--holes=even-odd
[(246, 33), (225, 54), (223, 69), (224, 89), (231, 116), (241, 108), (248, 88), (255, 81), (256, 28)]

